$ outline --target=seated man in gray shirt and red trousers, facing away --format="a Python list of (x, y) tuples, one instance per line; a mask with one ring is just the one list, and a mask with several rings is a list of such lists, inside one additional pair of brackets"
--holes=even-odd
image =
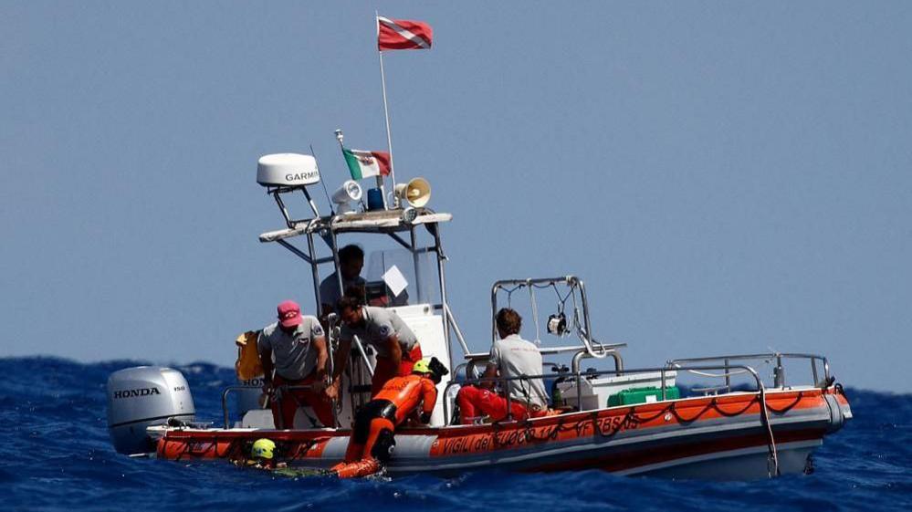
[[(483, 378), (519, 377), (541, 375), (541, 353), (534, 343), (519, 338), (522, 318), (509, 308), (502, 308), (497, 316), (500, 340), (491, 347), (487, 368)], [(462, 423), (472, 421), (485, 414), (490, 421), (498, 422), (507, 418), (507, 399), (493, 392), (494, 381), (482, 382), (478, 386), (464, 386), (456, 395)], [(513, 419), (536, 417), (548, 412), (548, 398), (540, 378), (515, 379), (507, 382)]]

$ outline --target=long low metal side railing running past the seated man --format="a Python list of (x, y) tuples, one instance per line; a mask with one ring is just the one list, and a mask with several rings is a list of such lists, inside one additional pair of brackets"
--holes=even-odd
[[(665, 366), (665, 367), (660, 367), (660, 368), (636, 368), (636, 369), (631, 369), (631, 370), (624, 370), (621, 373), (623, 373), (624, 375), (631, 375), (631, 374), (635, 374), (635, 373), (649, 373), (649, 372), (659, 373), (660, 380), (661, 380), (661, 388), (660, 388), (661, 391), (660, 392), (662, 395), (662, 400), (665, 401), (665, 400), (667, 400), (666, 382), (669, 380), (669, 377), (670, 377), (668, 374), (671, 372), (675, 372), (675, 374), (676, 374), (676, 372), (678, 372), (678, 371), (687, 371), (687, 372), (695, 373), (695, 374), (701, 375), (701, 376), (725, 378), (725, 379), (729, 379), (730, 377), (733, 377), (735, 375), (741, 375), (741, 374), (750, 375), (751, 377), (753, 377), (754, 382), (756, 383), (756, 390), (757, 390), (756, 392), (760, 393), (760, 401), (762, 402), (763, 410), (764, 411), (766, 410), (766, 387), (763, 385), (763, 380), (760, 378), (760, 374), (756, 370), (754, 370), (750, 366), (747, 366), (744, 364), (730, 364), (730, 363), (729, 364), (701, 364), (701, 365), (687, 365), (687, 366), (682, 365), (682, 366), (675, 366), (675, 367)], [(723, 373), (709, 373), (709, 371), (723, 371)], [(462, 382), (450, 381), (446, 384), (446, 388), (444, 389), (444, 396), (445, 397), (450, 396), (450, 389), (457, 384), (461, 385), (461, 386), (466, 386), (466, 385), (471, 385), (471, 384), (494, 383), (494, 384), (499, 384), (501, 389), (508, 390), (507, 383), (509, 381), (527, 381), (528, 382), (533, 379), (542, 379), (542, 380), (543, 379), (564, 379), (564, 380), (566, 380), (568, 377), (576, 379), (577, 386), (578, 386), (577, 390), (579, 390), (580, 382), (582, 381), (582, 379), (592, 379), (595, 377), (601, 377), (601, 376), (606, 376), (606, 375), (619, 375), (621, 373), (619, 373), (617, 370), (585, 371), (585, 372), (581, 372), (581, 371), (577, 370), (577, 371), (571, 372), (570, 374), (568, 374), (568, 372), (557, 372), (557, 373), (542, 373), (540, 375), (518, 375), (518, 376), (513, 376), (513, 377), (503, 377), (503, 376), (481, 377), (481, 378), (477, 378), (477, 379), (466, 379), (465, 381), (462, 381)], [(507, 411), (508, 411), (506, 421), (508, 421), (508, 422), (514, 421), (514, 419), (512, 417), (512, 411), (510, 408), (512, 398), (510, 397), (508, 392), (505, 392), (504, 394), (506, 395), (506, 399), (507, 399)], [(576, 402), (577, 402), (577, 405), (576, 405), (575, 412), (582, 412), (582, 393), (581, 392), (577, 392)], [(767, 413), (764, 413), (764, 415), (767, 415)], [(452, 418), (450, 417), (449, 402), (447, 400), (444, 400), (444, 423), (450, 424), (451, 421), (452, 421)]]

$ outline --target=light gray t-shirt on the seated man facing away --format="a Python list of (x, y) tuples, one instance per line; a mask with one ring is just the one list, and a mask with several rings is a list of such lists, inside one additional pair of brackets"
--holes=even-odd
[[(494, 342), (491, 347), (490, 363), (497, 365), (502, 377), (519, 375), (541, 375), (541, 352), (534, 343), (510, 334), (503, 340)], [(508, 381), (510, 400), (528, 402), (530, 405), (546, 407), (548, 395), (541, 379), (517, 379)]]

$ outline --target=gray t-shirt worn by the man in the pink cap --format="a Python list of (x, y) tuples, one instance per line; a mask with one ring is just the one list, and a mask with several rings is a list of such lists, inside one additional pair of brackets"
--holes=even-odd
[(285, 379), (304, 379), (317, 369), (317, 350), (313, 340), (323, 337), (323, 328), (316, 317), (301, 316), (301, 324), (290, 335), (278, 327), (278, 322), (263, 329), (257, 350), (272, 350), (276, 373)]

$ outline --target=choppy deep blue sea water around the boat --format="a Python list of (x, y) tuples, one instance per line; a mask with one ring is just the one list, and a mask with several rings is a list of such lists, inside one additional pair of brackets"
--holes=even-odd
[[(288, 478), (224, 463), (118, 455), (105, 382), (135, 366), (0, 359), (2, 510), (912, 510), (912, 396), (847, 390), (854, 420), (828, 436), (812, 475), (758, 482), (673, 481), (600, 471), (477, 472), (340, 481)], [(177, 367), (197, 418), (217, 420), (233, 369)]]

